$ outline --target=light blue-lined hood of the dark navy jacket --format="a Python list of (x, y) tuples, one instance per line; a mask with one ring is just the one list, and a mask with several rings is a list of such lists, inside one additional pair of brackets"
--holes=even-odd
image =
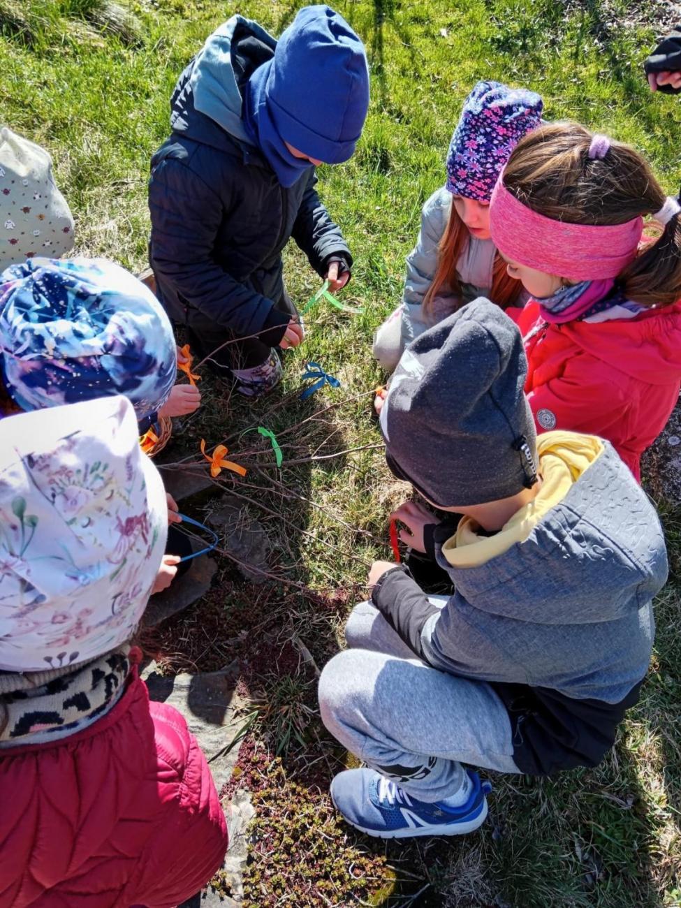
[(242, 15), (222, 23), (175, 85), (173, 132), (218, 148), (229, 145), (230, 136), (252, 145), (242, 122), (243, 89), (251, 74), (274, 55), (276, 44), (261, 25)]

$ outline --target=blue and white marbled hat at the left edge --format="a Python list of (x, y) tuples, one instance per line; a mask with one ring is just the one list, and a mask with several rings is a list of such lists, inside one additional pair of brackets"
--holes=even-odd
[(31, 259), (0, 276), (0, 365), (22, 410), (124, 394), (138, 419), (168, 399), (177, 351), (152, 291), (105, 259)]

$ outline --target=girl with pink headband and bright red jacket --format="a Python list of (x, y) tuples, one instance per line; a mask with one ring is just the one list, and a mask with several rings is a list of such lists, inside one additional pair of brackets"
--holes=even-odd
[[(518, 143), (490, 206), (508, 273), (534, 298), (509, 314), (538, 430), (606, 438), (637, 479), (681, 380), (679, 212), (640, 154), (577, 123)], [(642, 238), (647, 214), (656, 241)]]

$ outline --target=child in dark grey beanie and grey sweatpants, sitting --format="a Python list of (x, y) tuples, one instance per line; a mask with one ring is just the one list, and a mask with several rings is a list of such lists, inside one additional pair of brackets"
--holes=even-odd
[(637, 702), (666, 579), (654, 508), (607, 441), (536, 442), (516, 326), (488, 300), (414, 341), (381, 411), (386, 457), (456, 528), (410, 503), (412, 547), (456, 588), (429, 600), (376, 562), (350, 649), (320, 680), (321, 717), (370, 768), (331, 795), (362, 832), (460, 834), (486, 786), (461, 763), (548, 775), (597, 765)]

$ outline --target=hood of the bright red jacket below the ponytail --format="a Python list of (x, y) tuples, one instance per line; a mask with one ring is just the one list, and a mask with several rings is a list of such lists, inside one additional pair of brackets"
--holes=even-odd
[(570, 321), (568, 338), (597, 360), (649, 385), (681, 380), (681, 301), (636, 319)]

